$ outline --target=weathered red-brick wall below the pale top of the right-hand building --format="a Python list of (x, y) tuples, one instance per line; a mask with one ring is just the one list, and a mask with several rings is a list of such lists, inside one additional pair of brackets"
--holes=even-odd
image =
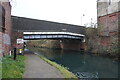
[(112, 55), (118, 53), (118, 26), (119, 26), (120, 12), (108, 14), (98, 18), (99, 27), (99, 52), (107, 52)]

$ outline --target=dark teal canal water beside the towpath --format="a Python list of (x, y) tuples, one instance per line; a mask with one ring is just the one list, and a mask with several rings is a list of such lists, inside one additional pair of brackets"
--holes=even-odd
[(79, 78), (118, 78), (119, 62), (78, 51), (29, 48), (36, 54), (67, 67)]

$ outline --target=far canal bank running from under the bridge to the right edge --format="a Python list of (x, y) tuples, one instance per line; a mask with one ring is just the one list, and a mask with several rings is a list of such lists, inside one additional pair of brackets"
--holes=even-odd
[[(119, 57), (119, 47), (116, 45), (112, 49), (107, 49), (110, 47), (102, 47), (100, 46), (100, 43), (98, 42), (100, 40), (100, 37), (98, 37), (96, 34), (96, 29), (94, 28), (88, 28), (88, 33), (86, 33), (86, 42), (85, 43), (79, 43), (77, 41), (63, 41), (61, 44), (60, 40), (32, 40), (27, 42), (27, 46), (30, 47), (36, 47), (36, 48), (48, 48), (48, 49), (61, 49), (61, 50), (75, 50), (75, 51), (84, 51), (86, 53), (95, 54), (97, 56), (103, 56), (103, 57), (109, 57), (113, 58), (115, 60), (120, 60)], [(116, 42), (116, 41), (113, 41)], [(71, 44), (72, 43), (72, 44)], [(117, 42), (116, 42), (117, 44)]]

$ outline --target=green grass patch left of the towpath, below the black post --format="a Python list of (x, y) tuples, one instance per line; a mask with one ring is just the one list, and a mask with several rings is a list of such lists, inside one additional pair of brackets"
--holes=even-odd
[(2, 78), (22, 78), (25, 71), (25, 56), (17, 55), (16, 60), (13, 56), (2, 58)]

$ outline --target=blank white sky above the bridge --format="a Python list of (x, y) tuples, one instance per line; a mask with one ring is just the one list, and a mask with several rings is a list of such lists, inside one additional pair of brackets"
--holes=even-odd
[(84, 25), (96, 22), (96, 0), (12, 0), (12, 15)]

